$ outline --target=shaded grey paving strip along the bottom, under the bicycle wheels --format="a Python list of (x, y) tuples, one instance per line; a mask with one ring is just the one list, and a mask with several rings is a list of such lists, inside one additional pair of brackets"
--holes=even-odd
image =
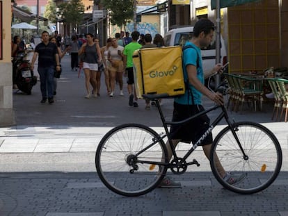
[(109, 191), (95, 173), (0, 174), (0, 215), (287, 216), (287, 172), (253, 195), (224, 190), (211, 172), (173, 176), (183, 187), (141, 197)]

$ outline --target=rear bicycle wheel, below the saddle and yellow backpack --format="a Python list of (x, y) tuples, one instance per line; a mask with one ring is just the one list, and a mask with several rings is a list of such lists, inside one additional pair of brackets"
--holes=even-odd
[[(137, 170), (131, 173), (132, 166), (127, 158), (159, 139), (159, 134), (142, 124), (122, 124), (102, 138), (97, 147), (95, 165), (97, 174), (107, 188), (113, 192), (136, 197), (150, 192), (159, 185), (167, 167), (151, 163), (135, 163)], [(163, 140), (146, 149), (137, 159), (161, 162), (168, 152)]]

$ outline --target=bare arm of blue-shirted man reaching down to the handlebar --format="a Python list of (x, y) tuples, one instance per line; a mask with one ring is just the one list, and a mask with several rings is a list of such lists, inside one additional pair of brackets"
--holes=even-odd
[(207, 96), (211, 101), (216, 102), (219, 105), (223, 105), (223, 95), (217, 92), (211, 92), (203, 85), (197, 77), (197, 68), (194, 65), (186, 66), (188, 80), (196, 90)]

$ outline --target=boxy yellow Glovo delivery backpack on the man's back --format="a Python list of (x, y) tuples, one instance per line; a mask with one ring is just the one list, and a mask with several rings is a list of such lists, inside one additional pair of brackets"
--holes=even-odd
[(138, 98), (142, 94), (168, 94), (168, 97), (184, 94), (182, 47), (138, 49), (134, 51), (133, 63)]

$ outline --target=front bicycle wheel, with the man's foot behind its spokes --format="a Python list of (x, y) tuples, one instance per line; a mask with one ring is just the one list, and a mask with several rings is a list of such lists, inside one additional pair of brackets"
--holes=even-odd
[[(234, 123), (232, 130), (236, 137), (227, 126), (211, 147), (210, 165), (214, 176), (224, 188), (240, 194), (264, 190), (281, 169), (282, 151), (277, 138), (268, 128), (254, 122)], [(234, 176), (234, 182), (227, 181), (222, 168), (228, 176)]]

